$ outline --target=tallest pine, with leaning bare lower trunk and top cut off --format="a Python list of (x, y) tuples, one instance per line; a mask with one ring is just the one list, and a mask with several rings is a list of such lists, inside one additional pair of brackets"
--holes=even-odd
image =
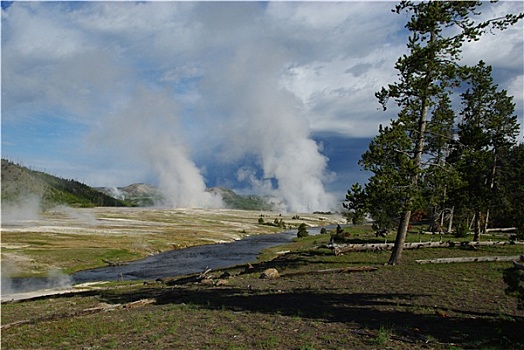
[(376, 96), (384, 110), (393, 99), (401, 111), (391, 127), (380, 128), (361, 161), (373, 172), (365, 192), (377, 201), (370, 200), (370, 205), (391, 200), (387, 216), (396, 216), (398, 222), (389, 264), (400, 262), (411, 213), (420, 205), (421, 180), (427, 169), (428, 122), (459, 82), (463, 43), (478, 40), (487, 28), (504, 29), (522, 17), (510, 14), (475, 23), (470, 16), (479, 14), (480, 5), (480, 1), (402, 1), (395, 8), (398, 14), (409, 16), (409, 55), (396, 63), (399, 81)]

